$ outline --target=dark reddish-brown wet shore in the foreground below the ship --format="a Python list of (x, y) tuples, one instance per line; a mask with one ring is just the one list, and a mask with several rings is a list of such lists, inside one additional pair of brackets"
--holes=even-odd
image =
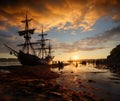
[[(0, 101), (104, 101), (57, 84), (51, 66), (0, 67)], [(85, 85), (84, 85), (85, 86)]]

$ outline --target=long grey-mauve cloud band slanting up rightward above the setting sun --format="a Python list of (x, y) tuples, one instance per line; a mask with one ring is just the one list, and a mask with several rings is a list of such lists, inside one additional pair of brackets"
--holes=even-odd
[(120, 25), (96, 36), (77, 40), (72, 44), (58, 42), (57, 40), (54, 40), (53, 43), (55, 43), (54, 49), (61, 49), (64, 52), (93, 51), (111, 47), (108, 43), (119, 40), (119, 37)]

